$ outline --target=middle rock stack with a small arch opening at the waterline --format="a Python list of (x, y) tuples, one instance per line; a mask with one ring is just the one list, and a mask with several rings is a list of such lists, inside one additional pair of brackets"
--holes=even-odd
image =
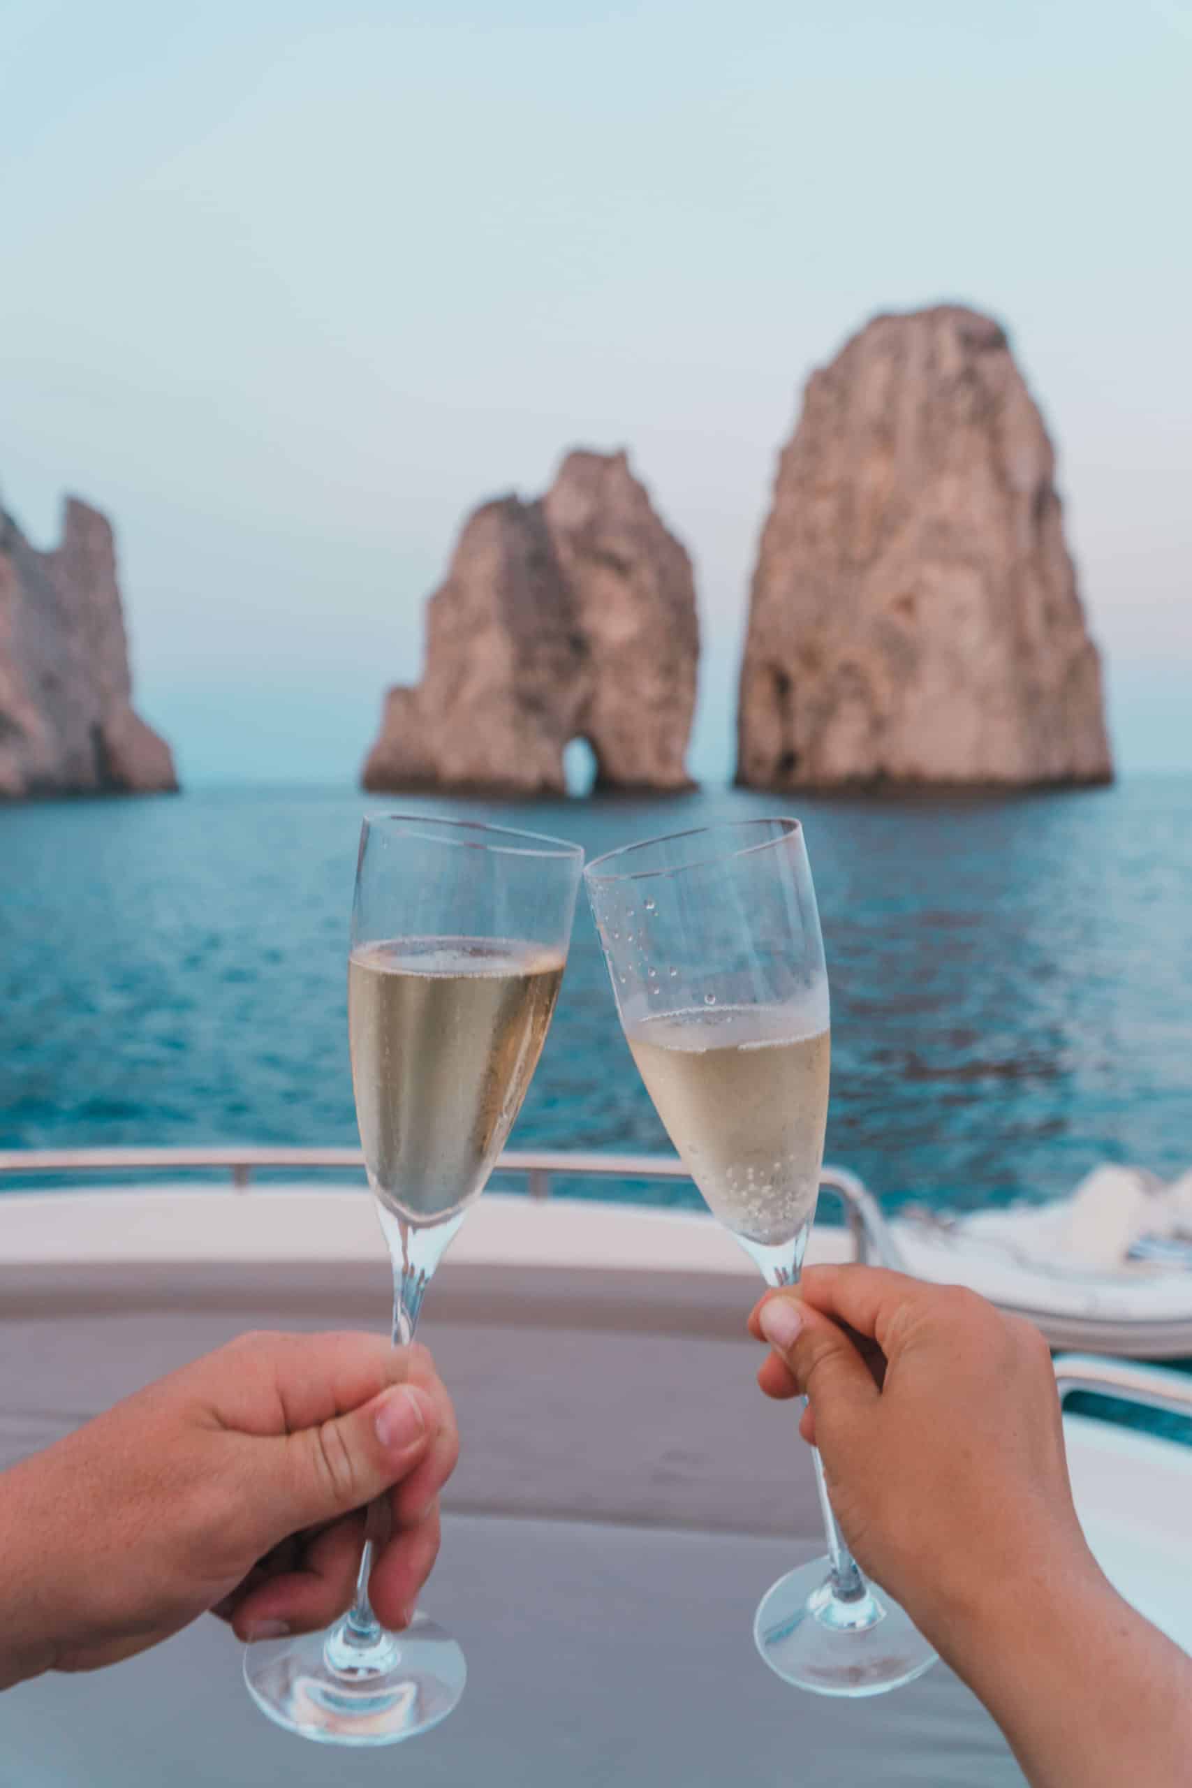
[(686, 551), (624, 452), (570, 452), (545, 497), (465, 522), (424, 678), (390, 690), (363, 783), (563, 794), (586, 738), (600, 789), (688, 789), (697, 658)]

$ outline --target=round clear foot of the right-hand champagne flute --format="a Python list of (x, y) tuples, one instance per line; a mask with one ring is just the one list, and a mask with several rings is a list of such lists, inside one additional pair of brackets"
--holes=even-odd
[(779, 1577), (754, 1616), (754, 1641), (770, 1670), (813, 1695), (885, 1695), (936, 1659), (897, 1602), (865, 1584), (854, 1600), (833, 1595), (826, 1557)]

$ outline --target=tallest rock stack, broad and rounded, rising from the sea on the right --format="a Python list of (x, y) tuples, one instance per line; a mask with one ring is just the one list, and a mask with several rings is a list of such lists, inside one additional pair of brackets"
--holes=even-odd
[(736, 780), (1099, 783), (1097, 649), (1006, 336), (876, 316), (813, 372), (752, 581)]

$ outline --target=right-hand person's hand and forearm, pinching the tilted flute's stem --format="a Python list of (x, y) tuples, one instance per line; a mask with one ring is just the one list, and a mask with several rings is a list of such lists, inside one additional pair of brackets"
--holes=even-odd
[[(818, 1266), (749, 1318), (806, 1395), (863, 1570), (994, 1715), (1033, 1788), (1187, 1788), (1192, 1661), (1101, 1573), (1044, 1337), (958, 1286)], [(1146, 1484), (1140, 1486), (1146, 1498)]]

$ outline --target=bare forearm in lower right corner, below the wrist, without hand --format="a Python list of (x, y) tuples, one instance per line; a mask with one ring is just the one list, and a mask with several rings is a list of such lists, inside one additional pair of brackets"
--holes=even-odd
[(951, 1650), (1031, 1788), (1192, 1779), (1192, 1659), (1099, 1572), (1058, 1598), (1022, 1597)]

